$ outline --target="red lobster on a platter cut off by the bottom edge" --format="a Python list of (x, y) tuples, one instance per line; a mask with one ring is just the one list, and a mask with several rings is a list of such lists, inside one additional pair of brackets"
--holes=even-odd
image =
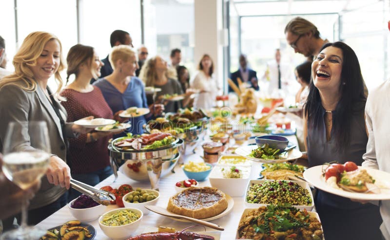
[[(191, 229), (194, 228), (194, 229)], [(191, 239), (204, 239), (204, 240), (220, 240), (221, 232), (220, 231), (196, 231), (199, 229), (203, 229), (201, 226), (190, 226), (184, 229), (175, 229), (173, 227), (151, 227), (147, 226), (143, 230), (141, 235), (137, 235), (129, 240), (139, 240), (139, 239), (157, 239), (158, 236), (164, 234), (169, 239), (187, 239), (191, 237)], [(203, 229), (204, 230), (204, 229)], [(186, 232), (185, 234), (181, 233)]]

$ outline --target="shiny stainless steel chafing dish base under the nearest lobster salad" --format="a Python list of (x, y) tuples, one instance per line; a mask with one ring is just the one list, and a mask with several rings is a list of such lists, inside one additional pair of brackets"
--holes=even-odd
[(183, 149), (184, 140), (177, 138), (171, 145), (157, 149), (123, 150), (109, 144), (110, 163), (117, 178), (117, 170), (135, 181), (150, 180), (153, 189), (158, 189), (160, 177), (176, 166)]

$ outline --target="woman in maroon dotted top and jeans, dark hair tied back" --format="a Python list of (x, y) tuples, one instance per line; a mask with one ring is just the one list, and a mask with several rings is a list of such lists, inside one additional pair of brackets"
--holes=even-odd
[[(113, 112), (100, 89), (90, 84), (92, 77), (97, 79), (100, 76), (103, 66), (95, 49), (76, 44), (69, 50), (66, 60), (67, 81), (70, 75), (76, 76), (61, 92), (61, 96), (66, 98), (61, 104), (68, 112), (68, 120), (75, 121), (85, 116), (113, 119)], [(107, 150), (112, 133), (94, 131), (69, 140), (68, 161), (73, 179), (95, 186), (113, 173)], [(70, 189), (69, 193), (68, 202), (81, 195), (74, 189)]]

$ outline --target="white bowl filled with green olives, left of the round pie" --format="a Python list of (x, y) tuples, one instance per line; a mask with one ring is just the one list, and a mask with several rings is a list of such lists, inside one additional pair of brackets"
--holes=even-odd
[(146, 205), (156, 205), (160, 193), (153, 189), (141, 189), (137, 187), (135, 191), (125, 194), (122, 198), (125, 207), (137, 208), (142, 211), (143, 215), (148, 215), (150, 210), (146, 209)]

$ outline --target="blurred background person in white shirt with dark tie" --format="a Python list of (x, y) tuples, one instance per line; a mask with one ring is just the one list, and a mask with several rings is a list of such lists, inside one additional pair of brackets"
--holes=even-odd
[(267, 63), (267, 70), (262, 77), (268, 83), (268, 94), (274, 96), (277, 91), (289, 94), (289, 80), (292, 79), (289, 66), (281, 62), (280, 49), (275, 50), (275, 59)]

